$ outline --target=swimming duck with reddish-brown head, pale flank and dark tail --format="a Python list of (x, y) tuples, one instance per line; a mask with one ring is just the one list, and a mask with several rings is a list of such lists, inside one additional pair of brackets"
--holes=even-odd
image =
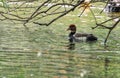
[[(67, 28), (67, 31), (70, 31), (68, 37), (69, 37), (69, 42), (78, 42), (78, 41), (86, 41), (86, 42), (94, 42), (97, 41), (97, 37), (94, 36), (93, 34), (88, 34), (88, 33), (76, 33), (76, 25), (75, 24), (70, 24), (69, 27)], [(81, 40), (84, 39), (84, 40)]]

